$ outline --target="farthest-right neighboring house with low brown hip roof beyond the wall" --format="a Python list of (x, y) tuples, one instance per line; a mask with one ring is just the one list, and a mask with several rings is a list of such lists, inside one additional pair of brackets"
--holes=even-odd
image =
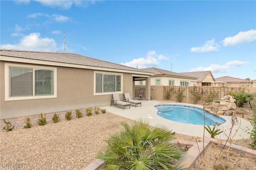
[[(225, 82), (227, 87), (252, 87), (252, 81), (230, 76), (223, 76), (215, 79), (218, 82)], [(218, 83), (221, 84), (221, 83)], [(220, 86), (220, 85), (219, 85)]]

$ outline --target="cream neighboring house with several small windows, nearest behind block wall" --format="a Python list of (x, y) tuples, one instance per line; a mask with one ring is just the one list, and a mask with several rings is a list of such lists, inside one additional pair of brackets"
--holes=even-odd
[[(153, 72), (151, 86), (196, 86), (196, 77), (162, 70), (160, 68), (143, 68), (142, 70)], [(145, 85), (145, 81), (136, 82), (136, 85)]]

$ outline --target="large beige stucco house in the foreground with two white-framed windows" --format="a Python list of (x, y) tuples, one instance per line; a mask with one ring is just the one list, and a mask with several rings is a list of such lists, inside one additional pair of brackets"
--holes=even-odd
[[(151, 72), (70, 53), (0, 49), (0, 119), (110, 105)], [(122, 110), (122, 109), (121, 109)], [(121, 111), (120, 110), (120, 111)]]

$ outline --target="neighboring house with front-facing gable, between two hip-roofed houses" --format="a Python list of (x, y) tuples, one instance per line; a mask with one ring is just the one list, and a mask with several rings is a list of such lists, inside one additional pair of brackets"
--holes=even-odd
[(180, 74), (197, 77), (196, 86), (216, 86), (216, 80), (211, 71), (180, 72)]

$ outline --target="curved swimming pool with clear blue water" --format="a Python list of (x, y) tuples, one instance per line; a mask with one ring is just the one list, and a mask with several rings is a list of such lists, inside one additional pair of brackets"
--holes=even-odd
[(204, 117), (205, 125), (218, 125), (226, 122), (225, 119), (199, 107), (176, 104), (156, 105), (155, 107), (158, 109), (157, 114), (160, 117), (180, 123), (204, 125)]

